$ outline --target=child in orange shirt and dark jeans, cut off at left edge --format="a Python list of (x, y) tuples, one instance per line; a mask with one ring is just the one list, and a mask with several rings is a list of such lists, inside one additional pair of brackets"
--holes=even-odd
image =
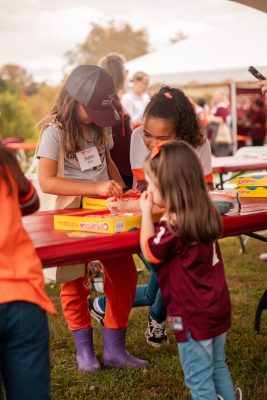
[(0, 387), (3, 381), (7, 400), (48, 400), (46, 311), (56, 310), (44, 292), (42, 265), (21, 219), (39, 208), (39, 200), (13, 152), (2, 145), (0, 205)]

